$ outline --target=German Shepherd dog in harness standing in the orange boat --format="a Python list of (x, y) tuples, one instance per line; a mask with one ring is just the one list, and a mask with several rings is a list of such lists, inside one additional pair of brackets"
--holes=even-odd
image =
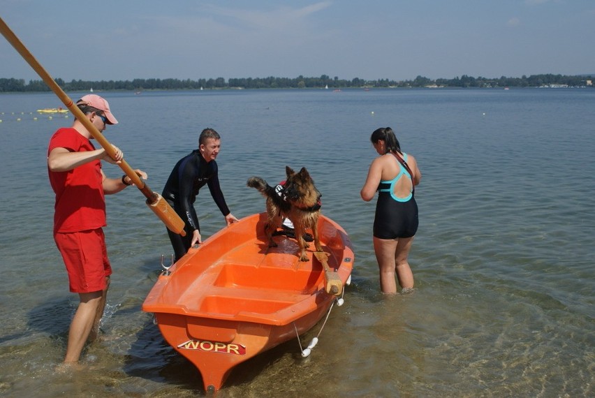
[(312, 230), (316, 250), (322, 251), (321, 241), (318, 237), (321, 193), (314, 186), (314, 181), (306, 168), (302, 168), (300, 172), (296, 173), (286, 166), (285, 172), (287, 179), (281, 191), (276, 191), (260, 177), (250, 177), (247, 186), (258, 189), (267, 198), (268, 223), (265, 232), (269, 239), (269, 247), (277, 247), (272, 235), (286, 217), (295, 228), (295, 239), (298, 240), (298, 246), (300, 246), (300, 261), (308, 261), (306, 255), (308, 244), (304, 239), (306, 228)]

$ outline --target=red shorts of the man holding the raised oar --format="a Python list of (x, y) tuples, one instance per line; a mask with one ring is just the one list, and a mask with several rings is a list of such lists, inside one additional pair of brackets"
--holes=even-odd
[(105, 289), (105, 277), (112, 274), (103, 230), (54, 233), (73, 293), (91, 293)]

